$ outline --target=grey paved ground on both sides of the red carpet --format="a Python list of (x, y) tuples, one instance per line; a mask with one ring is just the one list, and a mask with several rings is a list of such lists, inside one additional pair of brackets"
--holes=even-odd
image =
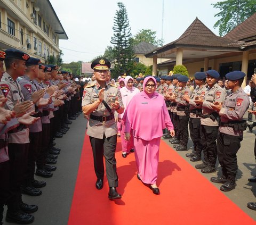
[[(73, 121), (73, 124), (70, 126), (70, 130), (67, 132), (67, 134), (63, 138), (55, 140), (57, 146), (61, 148), (61, 154), (58, 157), (57, 171), (54, 171), (53, 177), (49, 179), (35, 176), (38, 180), (47, 181), (47, 186), (42, 188), (43, 194), (38, 197), (23, 195), (24, 202), (29, 204), (37, 204), (39, 207), (38, 212), (34, 213), (35, 222), (33, 224), (67, 224), (74, 193), (79, 160), (83, 147), (85, 128), (86, 120), (83, 118), (83, 115), (80, 115), (77, 120)], [(256, 202), (256, 183), (250, 183), (247, 181), (249, 177), (256, 175), (256, 164), (253, 153), (254, 140), (255, 135), (250, 133), (249, 130), (246, 130), (244, 132), (244, 139), (242, 141), (241, 149), (239, 149), (237, 154), (238, 176), (236, 189), (223, 194), (229, 197), (231, 201), (238, 205), (238, 207), (240, 207), (244, 212), (256, 220), (256, 211), (250, 210), (246, 207), (247, 202)], [(168, 140), (166, 143), (169, 144)], [(170, 146), (172, 145), (170, 144)], [(188, 146), (190, 149), (192, 148), (193, 144), (191, 140), (189, 141)], [(191, 166), (194, 167), (198, 162), (190, 162), (189, 158), (185, 156), (188, 152), (191, 152), (191, 150), (187, 152), (179, 152), (179, 154), (184, 159), (186, 159), (187, 162), (191, 164)], [(198, 170), (198, 172), (200, 171)], [(210, 177), (217, 176), (219, 172), (220, 165), (218, 164), (216, 173), (200, 173), (202, 176), (208, 179), (209, 182), (211, 182)], [(183, 179), (186, 179), (186, 177)], [(212, 182), (211, 184), (217, 188), (220, 187), (219, 184), (214, 184)], [(209, 202), (209, 204), (211, 203)], [(4, 224), (13, 223), (5, 222)]]

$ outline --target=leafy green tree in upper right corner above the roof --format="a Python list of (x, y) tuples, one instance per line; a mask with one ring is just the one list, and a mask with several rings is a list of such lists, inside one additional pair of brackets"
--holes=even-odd
[(256, 0), (226, 0), (211, 5), (220, 10), (214, 15), (220, 17), (214, 24), (214, 28), (219, 27), (220, 36), (226, 35), (256, 12)]

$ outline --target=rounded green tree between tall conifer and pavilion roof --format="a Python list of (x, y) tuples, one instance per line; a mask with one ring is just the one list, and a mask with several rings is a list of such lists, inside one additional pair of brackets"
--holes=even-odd
[(156, 31), (153, 31), (151, 29), (142, 29), (139, 30), (137, 34), (133, 37), (133, 44), (137, 45), (141, 43), (142, 41), (145, 41), (147, 43), (150, 43), (152, 45), (156, 46), (162, 46), (164, 41), (163, 39), (157, 39), (156, 38)]

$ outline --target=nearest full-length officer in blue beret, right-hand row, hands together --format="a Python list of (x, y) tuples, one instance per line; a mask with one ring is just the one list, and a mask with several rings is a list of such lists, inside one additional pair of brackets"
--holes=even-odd
[(217, 151), (222, 176), (212, 177), (211, 181), (223, 184), (220, 187), (222, 191), (230, 191), (236, 186), (236, 153), (241, 147), (240, 143), (243, 140), (243, 131), (246, 129), (246, 120), (243, 120), (243, 115), (250, 104), (249, 97), (241, 87), (244, 77), (245, 73), (241, 71), (227, 73), (228, 87), (232, 92), (223, 102), (223, 106), (221, 102), (215, 102), (212, 106), (215, 111), (219, 112), (221, 119), (217, 139)]

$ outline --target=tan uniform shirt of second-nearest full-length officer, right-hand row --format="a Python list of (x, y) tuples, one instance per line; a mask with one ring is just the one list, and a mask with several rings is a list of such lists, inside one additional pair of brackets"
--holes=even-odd
[[(202, 114), (210, 115), (213, 112), (217, 113), (212, 109), (212, 104), (214, 102), (223, 102), (224, 99), (225, 99), (224, 90), (217, 83), (213, 85), (212, 88), (207, 87), (204, 95), (204, 102), (202, 105)], [(218, 127), (219, 121), (218, 120), (213, 121), (211, 118), (201, 118), (201, 124), (206, 126)]]

